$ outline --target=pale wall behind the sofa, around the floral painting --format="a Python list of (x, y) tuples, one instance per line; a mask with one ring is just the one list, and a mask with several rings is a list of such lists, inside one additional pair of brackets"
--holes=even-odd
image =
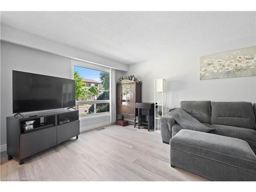
[(154, 79), (167, 80), (167, 107), (180, 106), (181, 100), (256, 102), (256, 77), (200, 80), (200, 57), (256, 45), (255, 36), (219, 45), (183, 47), (159, 52), (154, 59), (131, 65), (127, 74), (142, 80), (142, 101), (154, 102)]

